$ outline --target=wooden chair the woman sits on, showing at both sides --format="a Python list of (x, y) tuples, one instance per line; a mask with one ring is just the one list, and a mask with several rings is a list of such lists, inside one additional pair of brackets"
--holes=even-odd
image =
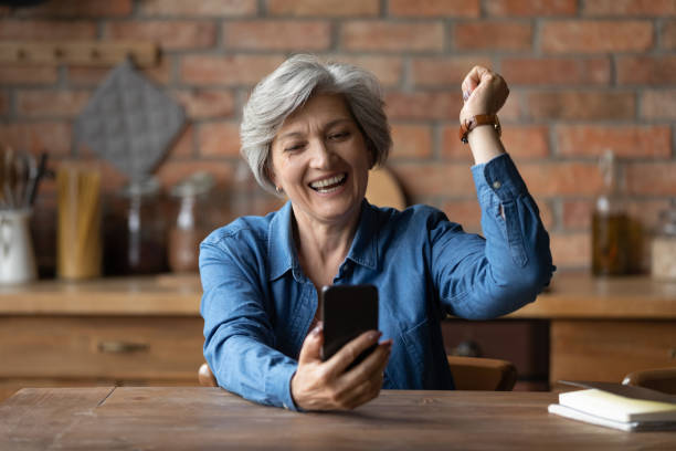
[[(446, 358), (457, 390), (510, 391), (516, 384), (516, 367), (507, 360), (458, 356)], [(218, 386), (207, 364), (200, 367), (198, 379), (203, 387)]]

